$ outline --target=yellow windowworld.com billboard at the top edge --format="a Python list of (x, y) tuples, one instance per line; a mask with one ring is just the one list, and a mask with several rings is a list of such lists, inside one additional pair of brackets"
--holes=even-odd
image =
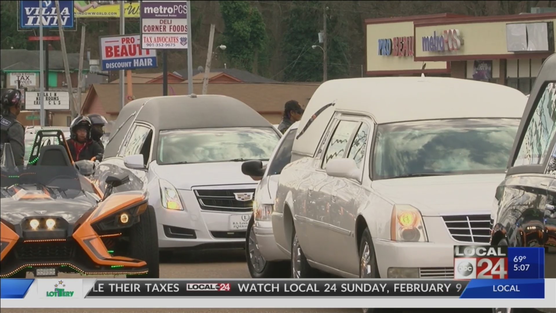
[[(74, 1), (75, 17), (113, 18), (120, 17), (120, 1)], [(126, 1), (123, 12), (126, 18), (140, 17), (141, 3)]]

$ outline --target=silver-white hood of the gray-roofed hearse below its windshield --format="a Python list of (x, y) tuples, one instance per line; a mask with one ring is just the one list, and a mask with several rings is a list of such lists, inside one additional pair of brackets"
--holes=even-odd
[(156, 165), (153, 170), (159, 178), (168, 180), (176, 189), (191, 190), (192, 187), (210, 185), (256, 185), (255, 180), (241, 172), (242, 163), (212, 162)]

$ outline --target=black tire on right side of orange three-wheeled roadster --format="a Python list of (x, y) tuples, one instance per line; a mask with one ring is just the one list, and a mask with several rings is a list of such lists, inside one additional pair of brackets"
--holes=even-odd
[(141, 214), (139, 222), (130, 232), (131, 257), (147, 262), (145, 275), (127, 275), (127, 278), (159, 278), (160, 260), (158, 258), (158, 233), (155, 208), (148, 206)]

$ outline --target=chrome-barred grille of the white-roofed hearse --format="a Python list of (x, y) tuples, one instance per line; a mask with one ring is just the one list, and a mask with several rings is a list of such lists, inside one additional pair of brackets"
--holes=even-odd
[(490, 216), (478, 214), (443, 216), (442, 218), (454, 240), (461, 242), (489, 243)]

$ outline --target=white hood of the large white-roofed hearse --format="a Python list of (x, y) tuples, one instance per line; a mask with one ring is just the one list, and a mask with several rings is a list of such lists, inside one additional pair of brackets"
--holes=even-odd
[(373, 189), (396, 204), (410, 204), (423, 216), (490, 214), (505, 174), (445, 175), (376, 180)]

